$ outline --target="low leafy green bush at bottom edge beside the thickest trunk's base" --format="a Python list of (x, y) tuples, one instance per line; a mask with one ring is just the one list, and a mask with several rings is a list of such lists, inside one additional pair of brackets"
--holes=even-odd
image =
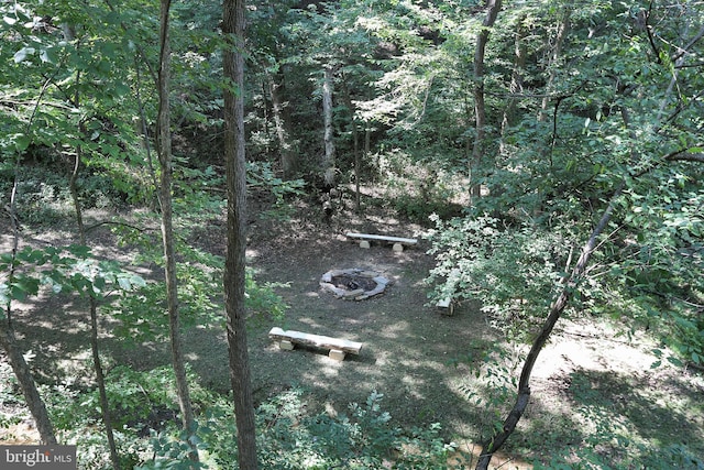
[[(454, 448), (439, 437), (440, 427), (406, 431), (392, 424), (381, 407), (383, 395), (351, 404), (349, 415), (308, 415), (304, 393), (289, 390), (263, 403), (256, 414), (260, 464), (267, 470), (446, 469)], [(221, 404), (222, 405), (222, 404)], [(219, 467), (237, 461), (233, 419), (227, 407), (211, 409), (201, 437)]]

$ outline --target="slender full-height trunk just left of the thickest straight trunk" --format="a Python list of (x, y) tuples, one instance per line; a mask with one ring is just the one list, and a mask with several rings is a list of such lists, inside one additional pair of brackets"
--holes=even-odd
[[(170, 75), (170, 46), (168, 37), (168, 17), (170, 0), (161, 2), (161, 31), (160, 31), (160, 65), (158, 65), (158, 114), (157, 114), (157, 147), (161, 166), (160, 203), (162, 209), (162, 239), (164, 244), (164, 275), (166, 278), (166, 304), (168, 308), (168, 326), (170, 334), (172, 362), (176, 376), (176, 392), (180, 408), (182, 424), (188, 436), (195, 433), (196, 418), (190, 402), (190, 391), (186, 376), (180, 338), (180, 316), (178, 311), (178, 283), (176, 278), (176, 249), (173, 227), (172, 207), (172, 133), (170, 133), (170, 107), (169, 75)], [(198, 451), (191, 444), (191, 459), (198, 460)]]

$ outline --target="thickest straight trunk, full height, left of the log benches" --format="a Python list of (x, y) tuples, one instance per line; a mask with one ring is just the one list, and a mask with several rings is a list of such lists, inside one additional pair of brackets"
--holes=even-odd
[(224, 266), (224, 303), (230, 358), (230, 381), (238, 428), (241, 470), (257, 468), (254, 400), (246, 345), (244, 305), (246, 249), (246, 174), (244, 135), (244, 0), (224, 0), (222, 32), (231, 43), (224, 51), (224, 78), (235, 89), (224, 89), (224, 161), (228, 193), (228, 241)]

